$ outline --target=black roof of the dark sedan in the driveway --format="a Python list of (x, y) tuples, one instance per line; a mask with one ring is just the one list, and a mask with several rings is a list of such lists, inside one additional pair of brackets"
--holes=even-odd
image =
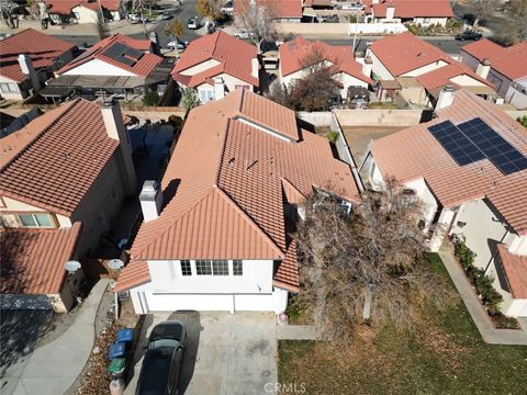
[(170, 373), (172, 349), (160, 348), (146, 351), (139, 377), (142, 394), (164, 394)]

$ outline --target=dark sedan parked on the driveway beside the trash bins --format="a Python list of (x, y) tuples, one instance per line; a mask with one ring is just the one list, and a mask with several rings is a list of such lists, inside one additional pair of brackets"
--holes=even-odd
[(143, 360), (136, 395), (178, 394), (179, 373), (187, 346), (187, 330), (180, 321), (164, 321), (152, 329)]

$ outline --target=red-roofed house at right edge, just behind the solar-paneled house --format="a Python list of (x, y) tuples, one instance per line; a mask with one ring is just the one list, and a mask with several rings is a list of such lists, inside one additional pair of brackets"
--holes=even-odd
[(487, 38), (461, 48), (461, 61), (519, 110), (527, 109), (527, 42), (504, 48)]

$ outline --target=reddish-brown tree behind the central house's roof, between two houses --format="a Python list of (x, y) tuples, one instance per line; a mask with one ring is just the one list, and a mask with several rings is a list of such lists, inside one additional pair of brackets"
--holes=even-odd
[(313, 50), (301, 59), (304, 77), (292, 87), (291, 98), (298, 110), (326, 111), (332, 100), (339, 94), (341, 84), (335, 79), (337, 61), (326, 60), (322, 48), (313, 46)]

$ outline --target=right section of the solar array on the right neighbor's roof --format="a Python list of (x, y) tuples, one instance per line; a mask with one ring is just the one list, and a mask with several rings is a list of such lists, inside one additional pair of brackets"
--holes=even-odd
[(527, 158), (481, 119), (470, 120), (458, 127), (502, 173), (527, 169)]

